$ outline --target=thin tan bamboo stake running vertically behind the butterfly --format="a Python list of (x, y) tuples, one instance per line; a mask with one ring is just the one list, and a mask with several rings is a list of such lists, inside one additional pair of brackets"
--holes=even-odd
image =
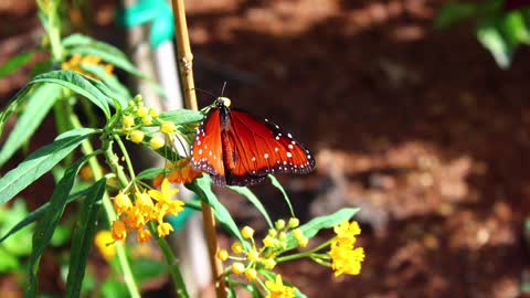
[[(178, 65), (180, 70), (180, 79), (182, 83), (186, 107), (198, 110), (194, 82), (193, 82), (193, 55), (191, 54), (190, 39), (188, 35), (188, 24), (186, 22), (186, 10), (183, 0), (171, 0), (174, 15), (174, 35), (177, 38)], [(214, 280), (215, 294), (218, 298), (225, 298), (226, 290), (224, 279), (222, 278), (222, 264), (215, 257), (218, 252), (218, 237), (215, 234), (215, 219), (212, 209), (202, 202), (202, 219), (204, 222), (204, 232), (206, 236), (210, 265), (212, 267), (212, 279)]]

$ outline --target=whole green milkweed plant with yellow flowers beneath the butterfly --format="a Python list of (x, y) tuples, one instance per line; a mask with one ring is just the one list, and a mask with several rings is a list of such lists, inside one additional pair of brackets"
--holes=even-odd
[[(86, 35), (72, 34), (63, 38), (60, 1), (42, 0), (38, 4), (46, 30), (43, 40), (49, 42), (44, 49), (50, 53), (50, 63), (45, 64), (49, 68), (44, 70), (40, 65), (35, 71), (38, 74), (0, 113), (0, 135), (7, 119), (13, 114), (19, 115), (0, 150), (0, 166), (30, 140), (42, 120), (52, 113), (59, 135), (53, 142), (31, 152), (0, 178), (2, 205), (50, 171), (57, 179), (46, 203), (28, 214), (19, 210), (20, 203), (17, 200), (12, 211), (15, 211), (13, 214), (18, 214), (18, 217), (2, 223), (2, 228), (8, 223), (15, 223), (9, 231), (3, 231), (0, 243), (4, 246), (15, 237), (23, 237), (29, 243), (30, 234), (32, 235), (31, 254), (25, 249), (25, 254), (29, 254), (25, 297), (38, 295), (36, 273), (40, 259), (45, 248), (53, 244), (53, 235), (61, 231), (60, 222), (65, 217), (74, 226), (73, 233), (62, 237), (71, 243), (64, 265), (67, 297), (78, 297), (88, 291), (98, 291), (98, 295), (107, 297), (139, 297), (138, 284), (145, 278), (161, 274), (170, 275), (178, 296), (188, 297), (179, 262), (165, 238), (173, 230), (165, 216), (178, 215), (186, 207), (202, 210), (209, 220), (206, 227), (212, 264), (216, 259), (233, 262), (225, 267), (215, 267), (219, 270), (214, 270), (213, 278), (219, 297), (234, 297), (235, 287), (248, 290), (254, 297), (304, 297), (295, 286), (274, 273), (276, 264), (294, 259), (312, 259), (331, 267), (336, 275), (360, 273), (364, 258), (363, 249), (356, 247), (360, 228), (356, 222), (350, 223), (358, 209), (343, 209), (300, 224), (287, 193), (271, 175), (273, 185), (284, 194), (292, 213), (288, 222), (276, 220), (273, 224), (271, 215), (251, 190), (231, 188), (247, 198), (268, 223), (268, 234), (262, 241), (263, 244), (259, 243), (254, 238), (251, 227), (237, 226), (212, 192), (210, 177), (193, 171), (189, 158), (178, 153), (174, 138), (179, 136), (191, 143), (195, 127), (204, 117), (203, 113), (192, 109), (159, 113), (147, 107), (141, 95), (131, 97), (114, 74), (114, 67), (130, 75), (146, 77), (120, 50)], [(181, 8), (177, 14), (183, 14), (182, 3), (176, 8)], [(186, 26), (186, 23), (180, 23), (180, 26)], [(187, 34), (180, 35), (182, 38), (187, 39)], [(190, 54), (189, 46), (187, 51), (184, 52)], [(182, 71), (187, 72), (187, 98), (194, 102), (193, 96), (190, 96), (193, 81), (190, 75), (191, 54), (188, 54), (184, 56), (190, 58), (186, 61)], [(13, 57), (2, 68), (3, 74), (9, 74), (26, 62), (26, 57)], [(54, 70), (59, 65), (61, 70)], [(189, 106), (197, 107), (197, 103)], [(86, 120), (82, 121), (82, 118)], [(137, 172), (126, 142), (158, 152), (167, 160), (167, 167)], [(80, 177), (85, 175), (86, 169), (91, 174), (85, 180), (88, 179), (89, 182), (82, 182)], [(152, 184), (151, 180), (155, 180)], [(200, 202), (184, 203), (176, 200), (177, 191), (169, 183), (186, 184), (200, 198)], [(66, 216), (67, 205), (74, 205), (72, 216)], [(216, 247), (213, 219), (208, 219), (209, 214), (236, 240), (232, 255)], [(36, 223), (33, 231), (23, 230), (33, 223)], [(324, 228), (333, 228), (336, 236), (315, 248), (305, 249), (310, 238)], [(132, 258), (128, 251), (134, 245), (124, 242), (131, 235), (136, 236), (138, 245), (155, 240), (163, 255), (165, 265), (152, 259)], [(87, 269), (88, 252), (94, 243), (113, 268), (100, 287), (96, 287), (99, 281), (95, 281)], [(9, 266), (13, 265), (8, 264), (7, 267)], [(118, 275), (121, 278), (117, 278)], [(118, 279), (124, 283), (117, 281)]]

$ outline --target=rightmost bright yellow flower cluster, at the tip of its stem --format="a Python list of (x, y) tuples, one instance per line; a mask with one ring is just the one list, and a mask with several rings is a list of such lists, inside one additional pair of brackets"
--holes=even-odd
[(342, 274), (358, 275), (361, 273), (361, 263), (364, 260), (364, 249), (354, 247), (357, 235), (361, 234), (359, 223), (341, 222), (333, 227), (337, 236), (331, 241), (329, 256), (335, 276)]

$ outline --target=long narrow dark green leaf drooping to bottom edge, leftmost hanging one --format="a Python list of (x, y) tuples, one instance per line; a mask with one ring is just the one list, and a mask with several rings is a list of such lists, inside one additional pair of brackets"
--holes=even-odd
[(66, 206), (66, 199), (68, 193), (74, 187), (75, 177), (81, 170), (83, 164), (94, 155), (83, 157), (77, 162), (72, 164), (64, 173), (61, 181), (59, 181), (52, 198), (50, 199), (50, 207), (46, 214), (42, 217), (33, 234), (33, 252), (29, 259), (29, 286), (24, 292), (24, 297), (35, 297), (38, 291), (36, 272), (39, 269), (39, 262), (44, 253), (44, 248), (50, 243), (53, 232), (57, 226), (59, 220), (63, 215), (64, 207)]

